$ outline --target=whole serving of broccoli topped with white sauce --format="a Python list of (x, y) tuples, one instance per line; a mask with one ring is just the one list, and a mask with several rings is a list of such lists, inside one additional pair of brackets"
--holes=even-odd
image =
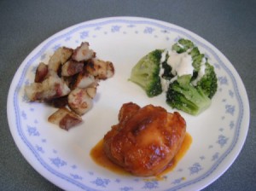
[(211, 105), (218, 89), (214, 67), (188, 39), (179, 39), (172, 49), (155, 49), (131, 70), (130, 80), (149, 97), (166, 92), (166, 103), (198, 115)]

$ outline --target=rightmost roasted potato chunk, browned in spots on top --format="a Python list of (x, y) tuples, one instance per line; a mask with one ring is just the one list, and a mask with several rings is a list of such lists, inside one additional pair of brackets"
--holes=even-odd
[(99, 59), (91, 59), (85, 66), (86, 71), (90, 72), (95, 78), (107, 79), (114, 74), (113, 63)]

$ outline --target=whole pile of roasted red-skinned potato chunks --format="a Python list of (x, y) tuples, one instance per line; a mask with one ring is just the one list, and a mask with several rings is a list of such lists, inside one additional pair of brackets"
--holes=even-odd
[(29, 101), (42, 101), (59, 108), (49, 116), (49, 122), (62, 129), (82, 122), (96, 96), (100, 80), (113, 77), (111, 61), (102, 61), (87, 42), (76, 49), (61, 47), (50, 56), (48, 64), (40, 62), (32, 84), (26, 85)]

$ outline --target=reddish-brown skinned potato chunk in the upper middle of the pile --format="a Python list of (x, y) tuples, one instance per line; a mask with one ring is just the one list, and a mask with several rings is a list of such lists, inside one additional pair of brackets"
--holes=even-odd
[(61, 76), (68, 77), (73, 76), (76, 73), (82, 72), (84, 68), (84, 62), (69, 60), (61, 67)]

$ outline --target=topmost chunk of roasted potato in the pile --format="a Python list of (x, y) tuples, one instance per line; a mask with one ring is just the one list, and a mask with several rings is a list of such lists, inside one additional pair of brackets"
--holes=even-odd
[(74, 49), (72, 59), (74, 61), (88, 61), (96, 56), (96, 53), (89, 49), (89, 43), (84, 42), (81, 45)]

